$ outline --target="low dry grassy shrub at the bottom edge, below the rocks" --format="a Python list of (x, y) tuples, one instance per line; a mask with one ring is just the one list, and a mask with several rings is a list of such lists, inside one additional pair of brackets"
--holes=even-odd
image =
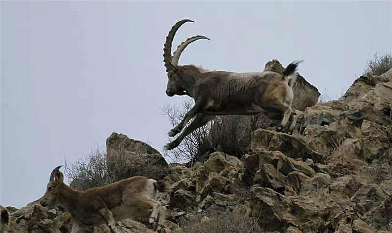
[(260, 233), (263, 232), (257, 224), (257, 219), (243, 214), (220, 211), (208, 213), (207, 221), (201, 221), (203, 215), (196, 216), (183, 226), (186, 233)]

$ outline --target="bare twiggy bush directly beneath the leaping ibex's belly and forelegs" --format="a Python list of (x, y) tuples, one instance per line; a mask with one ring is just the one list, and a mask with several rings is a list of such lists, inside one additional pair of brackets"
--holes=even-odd
[[(193, 100), (183, 102), (182, 109), (175, 106), (165, 106), (162, 112), (169, 117), (173, 127), (177, 126), (185, 114), (192, 108)], [(188, 122), (186, 127), (192, 122)], [(184, 163), (190, 161), (204, 162), (208, 155), (215, 151), (241, 157), (250, 149), (250, 134), (258, 128), (270, 125), (270, 119), (263, 114), (254, 116), (217, 116), (205, 126), (192, 132), (181, 144), (171, 151), (166, 151), (165, 156), (173, 161)]]

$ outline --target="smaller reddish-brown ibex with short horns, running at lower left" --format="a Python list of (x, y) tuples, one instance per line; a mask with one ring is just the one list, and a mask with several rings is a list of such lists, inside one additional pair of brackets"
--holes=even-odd
[(50, 174), (41, 205), (61, 205), (70, 212), (71, 233), (104, 223), (112, 233), (120, 233), (116, 221), (129, 217), (149, 217), (153, 225), (158, 220), (157, 231), (164, 231), (166, 208), (156, 201), (158, 191), (167, 191), (164, 181), (135, 176), (102, 187), (76, 191), (63, 183), (60, 167)]

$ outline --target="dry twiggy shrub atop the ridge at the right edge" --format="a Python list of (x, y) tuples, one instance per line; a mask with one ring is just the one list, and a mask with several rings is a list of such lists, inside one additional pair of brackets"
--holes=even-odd
[(373, 59), (367, 61), (367, 67), (364, 74), (382, 75), (392, 68), (392, 54), (385, 53), (382, 56), (374, 54)]

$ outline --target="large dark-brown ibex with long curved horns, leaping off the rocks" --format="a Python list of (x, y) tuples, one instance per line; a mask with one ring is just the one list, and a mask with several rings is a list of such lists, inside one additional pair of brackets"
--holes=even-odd
[(181, 123), (169, 131), (173, 137), (195, 117), (184, 132), (165, 148), (176, 148), (188, 134), (216, 115), (254, 115), (264, 113), (269, 118), (281, 120), (276, 128), (281, 131), (289, 121), (288, 132), (292, 133), (296, 124), (297, 112), (292, 110), (293, 85), (297, 74), (294, 73), (301, 61), (294, 61), (283, 71), (283, 75), (275, 72), (234, 73), (226, 71), (209, 71), (194, 65), (178, 65), (181, 53), (192, 42), (207, 39), (205, 36), (188, 38), (178, 46), (172, 56), (172, 42), (178, 28), (191, 20), (177, 22), (166, 37), (164, 45), (164, 62), (168, 73), (166, 94), (188, 95), (195, 100), (195, 105), (185, 115)]

